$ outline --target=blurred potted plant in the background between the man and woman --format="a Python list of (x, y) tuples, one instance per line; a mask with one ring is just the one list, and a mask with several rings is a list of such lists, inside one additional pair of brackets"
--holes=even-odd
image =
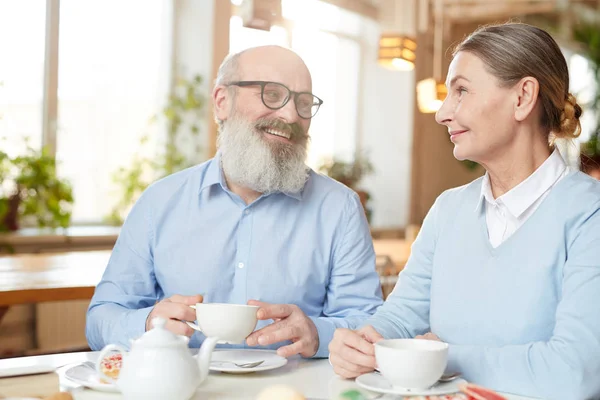
[(371, 195), (369, 192), (357, 187), (365, 176), (374, 171), (373, 165), (365, 155), (357, 155), (351, 162), (333, 158), (322, 163), (318, 167), (318, 170), (354, 190), (358, 194), (360, 202), (365, 209), (367, 220), (371, 222), (372, 210), (368, 206)]

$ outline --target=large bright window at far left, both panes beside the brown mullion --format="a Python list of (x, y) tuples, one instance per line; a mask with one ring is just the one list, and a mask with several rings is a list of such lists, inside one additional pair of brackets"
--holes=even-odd
[[(58, 28), (46, 7), (60, 4)], [(73, 185), (72, 223), (101, 223), (120, 193), (112, 182), (128, 166), (142, 135), (159, 141), (150, 123), (171, 78), (171, 0), (19, 0), (0, 2), (0, 142), (16, 153), (23, 139), (41, 148), (44, 111), (56, 106), (58, 174)], [(51, 28), (51, 29), (47, 29)], [(46, 37), (46, 32), (58, 32)], [(18, 38), (18, 40), (15, 40)], [(45, 59), (49, 48), (58, 48)], [(58, 58), (57, 58), (58, 57)], [(46, 68), (45, 64), (58, 65)], [(54, 64), (53, 64), (54, 63)], [(44, 80), (58, 93), (44, 102)], [(54, 132), (52, 132), (54, 133)], [(148, 148), (152, 148), (154, 142)]]

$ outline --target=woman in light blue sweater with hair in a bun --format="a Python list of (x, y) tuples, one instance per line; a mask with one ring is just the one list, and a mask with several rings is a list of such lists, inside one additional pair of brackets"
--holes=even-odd
[(448, 372), (521, 395), (600, 396), (600, 182), (567, 168), (555, 138), (579, 134), (565, 59), (525, 24), (460, 43), (436, 120), (454, 156), (487, 173), (442, 193), (386, 303), (330, 344), (347, 378), (375, 367), (373, 344), (449, 344)]

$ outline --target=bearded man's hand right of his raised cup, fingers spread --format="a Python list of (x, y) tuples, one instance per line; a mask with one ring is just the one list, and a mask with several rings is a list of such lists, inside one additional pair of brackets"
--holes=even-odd
[(312, 357), (319, 349), (319, 334), (317, 327), (302, 310), (293, 304), (269, 304), (262, 301), (250, 300), (251, 306), (260, 306), (257, 317), (260, 320), (272, 319), (271, 325), (253, 332), (246, 338), (249, 346), (267, 346), (273, 343), (290, 340), (293, 343), (280, 347), (277, 354), (281, 357), (291, 357), (300, 354), (302, 357)]

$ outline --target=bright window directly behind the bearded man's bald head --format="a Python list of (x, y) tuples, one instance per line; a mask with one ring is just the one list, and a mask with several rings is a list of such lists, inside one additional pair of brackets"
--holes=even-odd
[(317, 0), (283, 0), (282, 14), (283, 26), (268, 32), (244, 28), (233, 16), (230, 52), (267, 44), (296, 51), (312, 74), (313, 92), (324, 100), (311, 124), (307, 164), (316, 168), (332, 157), (351, 159), (359, 135), (362, 18)]

